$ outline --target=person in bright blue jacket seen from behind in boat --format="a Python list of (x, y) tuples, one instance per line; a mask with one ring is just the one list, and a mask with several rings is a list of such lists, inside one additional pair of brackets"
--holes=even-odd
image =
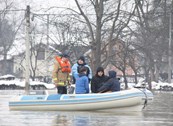
[(75, 74), (75, 93), (86, 94), (89, 93), (89, 82), (87, 77), (87, 67), (83, 66), (79, 69), (79, 73)]

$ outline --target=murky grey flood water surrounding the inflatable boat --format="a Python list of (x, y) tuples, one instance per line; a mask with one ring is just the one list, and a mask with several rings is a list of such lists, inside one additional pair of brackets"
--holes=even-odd
[(0, 126), (173, 126), (173, 92), (154, 92), (139, 113), (9, 111), (15, 93), (0, 91)]

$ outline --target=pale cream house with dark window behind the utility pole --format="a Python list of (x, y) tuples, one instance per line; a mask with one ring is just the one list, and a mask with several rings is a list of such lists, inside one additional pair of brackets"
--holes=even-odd
[[(53, 47), (47, 47), (45, 44), (36, 45), (30, 50), (30, 77), (45, 79), (51, 77), (54, 63), (54, 56), (60, 53)], [(25, 77), (25, 52), (13, 56), (13, 73), (16, 77)]]

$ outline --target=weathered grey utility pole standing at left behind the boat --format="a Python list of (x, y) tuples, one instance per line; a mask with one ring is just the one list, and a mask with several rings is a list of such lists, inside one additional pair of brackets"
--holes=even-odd
[(26, 7), (26, 40), (25, 40), (25, 45), (26, 45), (26, 68), (25, 68), (25, 93), (28, 95), (29, 94), (29, 55), (30, 55), (30, 6)]

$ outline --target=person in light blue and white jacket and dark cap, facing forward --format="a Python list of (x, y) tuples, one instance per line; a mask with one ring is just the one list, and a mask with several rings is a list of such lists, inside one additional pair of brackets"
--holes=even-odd
[(81, 67), (85, 66), (87, 68), (87, 73), (86, 73), (86, 76), (88, 77), (88, 82), (91, 81), (92, 79), (92, 70), (90, 68), (90, 66), (85, 62), (85, 57), (84, 56), (80, 56), (78, 58), (78, 61), (77, 63), (75, 63), (73, 66), (72, 66), (72, 77), (73, 77), (73, 83), (75, 84), (75, 75), (79, 74), (79, 69)]

